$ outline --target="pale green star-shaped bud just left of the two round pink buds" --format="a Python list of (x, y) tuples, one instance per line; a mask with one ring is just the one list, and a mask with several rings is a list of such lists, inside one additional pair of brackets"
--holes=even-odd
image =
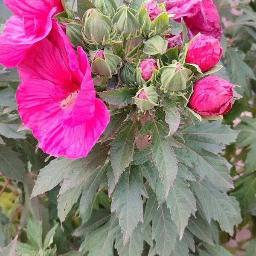
[(191, 70), (181, 66), (176, 60), (167, 67), (161, 67), (159, 73), (161, 89), (164, 90), (164, 93), (185, 90), (189, 76), (192, 74)]

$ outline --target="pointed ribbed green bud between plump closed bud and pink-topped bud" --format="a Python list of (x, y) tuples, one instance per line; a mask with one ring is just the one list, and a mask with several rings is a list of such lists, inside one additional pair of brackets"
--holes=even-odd
[(117, 32), (120, 33), (121, 38), (129, 38), (139, 34), (140, 23), (135, 17), (134, 10), (127, 6), (117, 9), (113, 17), (113, 23), (116, 26)]

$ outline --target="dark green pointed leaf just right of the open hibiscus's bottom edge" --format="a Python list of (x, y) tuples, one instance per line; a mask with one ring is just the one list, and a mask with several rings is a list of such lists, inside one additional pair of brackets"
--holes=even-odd
[(120, 131), (111, 144), (110, 157), (111, 166), (117, 183), (120, 175), (133, 160), (134, 139), (137, 124), (128, 121), (124, 130)]

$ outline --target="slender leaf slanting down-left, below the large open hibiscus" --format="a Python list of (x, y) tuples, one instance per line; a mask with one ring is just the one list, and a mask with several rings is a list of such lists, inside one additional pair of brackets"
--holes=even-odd
[(95, 169), (93, 174), (86, 180), (80, 199), (80, 215), (85, 214), (90, 207), (90, 204), (93, 202), (93, 198), (99, 189), (102, 177), (106, 173), (106, 167), (107, 166), (103, 166)]

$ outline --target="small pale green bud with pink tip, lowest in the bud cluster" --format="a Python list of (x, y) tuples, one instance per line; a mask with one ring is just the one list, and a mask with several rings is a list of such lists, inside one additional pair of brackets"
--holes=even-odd
[(143, 88), (138, 90), (136, 96), (133, 97), (134, 103), (141, 110), (145, 112), (157, 106), (158, 94), (154, 86), (146, 87), (143, 85)]

